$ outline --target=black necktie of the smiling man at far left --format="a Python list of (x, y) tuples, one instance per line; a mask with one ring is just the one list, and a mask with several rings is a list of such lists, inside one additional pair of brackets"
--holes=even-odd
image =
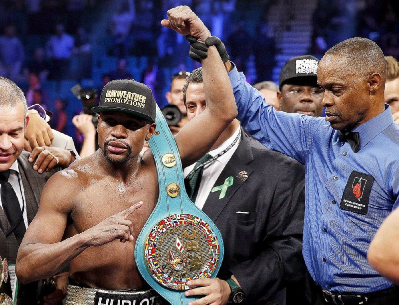
[(15, 238), (18, 244), (20, 244), (26, 228), (23, 223), (22, 211), (19, 207), (18, 198), (16, 197), (11, 184), (8, 183), (9, 173), (9, 169), (6, 171), (0, 171), (1, 205), (9, 224), (11, 225), (11, 228), (5, 233), (5, 235), (14, 232)]

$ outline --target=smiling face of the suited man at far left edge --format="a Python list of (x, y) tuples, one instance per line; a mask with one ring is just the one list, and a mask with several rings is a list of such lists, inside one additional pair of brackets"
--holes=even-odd
[(25, 119), (22, 103), (1, 105), (0, 114), (0, 171), (4, 171), (22, 152), (29, 117)]

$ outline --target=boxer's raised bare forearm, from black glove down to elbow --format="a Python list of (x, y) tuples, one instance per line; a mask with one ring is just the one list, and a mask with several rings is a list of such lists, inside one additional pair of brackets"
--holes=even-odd
[(227, 72), (215, 46), (208, 48), (208, 55), (202, 60), (202, 71), (206, 110), (229, 124), (237, 116), (237, 108)]

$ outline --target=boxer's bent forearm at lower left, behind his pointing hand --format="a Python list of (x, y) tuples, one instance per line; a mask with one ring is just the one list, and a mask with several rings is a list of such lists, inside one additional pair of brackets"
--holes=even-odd
[(90, 245), (80, 233), (54, 244), (25, 244), (18, 250), (15, 273), (21, 283), (53, 276)]

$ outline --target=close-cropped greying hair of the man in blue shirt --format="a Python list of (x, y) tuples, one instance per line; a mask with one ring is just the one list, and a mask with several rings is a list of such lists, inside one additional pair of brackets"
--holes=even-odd
[(383, 51), (374, 41), (361, 37), (349, 38), (329, 49), (322, 60), (329, 55), (341, 57), (346, 67), (351, 71), (356, 71), (356, 74), (360, 74), (359, 76), (365, 77), (375, 72), (379, 73), (385, 84), (387, 64)]

